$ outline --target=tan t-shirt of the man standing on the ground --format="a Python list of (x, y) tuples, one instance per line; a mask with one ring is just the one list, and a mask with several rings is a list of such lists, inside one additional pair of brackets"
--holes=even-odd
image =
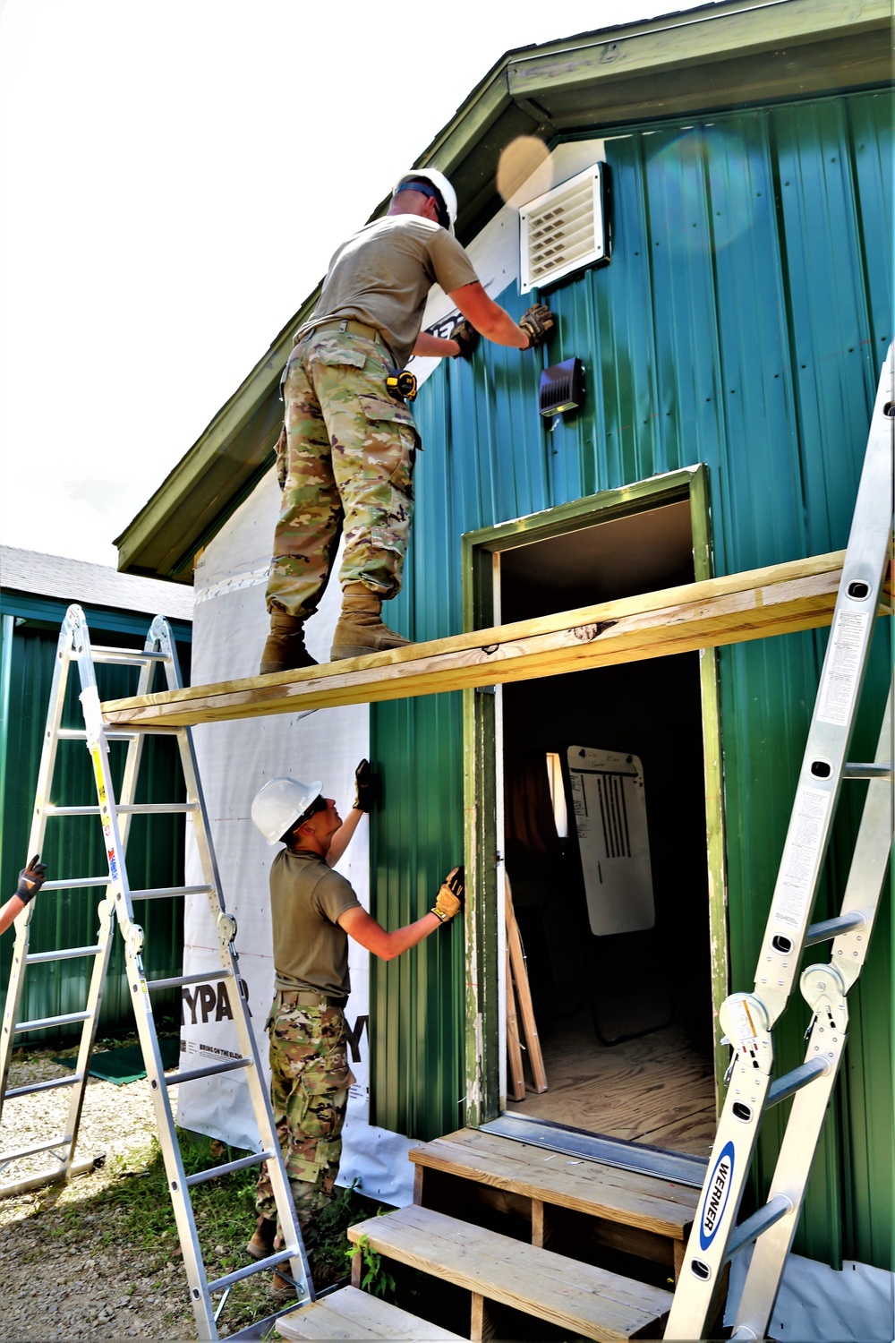
[(314, 853), (283, 849), (271, 865), (270, 902), (276, 987), (348, 998), (348, 933), (337, 920), (362, 905), (345, 877)]

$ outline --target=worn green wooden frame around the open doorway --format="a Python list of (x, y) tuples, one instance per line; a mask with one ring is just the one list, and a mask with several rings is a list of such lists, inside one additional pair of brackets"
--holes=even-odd
[[(495, 577), (503, 551), (608, 522), (613, 518), (690, 504), (695, 582), (714, 577), (708, 470), (704, 465), (653, 475), (621, 489), (604, 490), (557, 508), (514, 518), (463, 536), (463, 630), (488, 629), (494, 620)], [(569, 670), (574, 670), (570, 666)], [(561, 670), (561, 669), (560, 669)], [(706, 849), (708, 866), (708, 933), (715, 1031), (715, 1099), (727, 1061), (721, 1046), (718, 1010), (729, 992), (727, 872), (718, 653), (699, 658), (703, 768), (706, 782)], [(467, 870), (467, 1013), (466, 1121), (472, 1128), (501, 1113), (505, 990), (503, 901), (498, 898), (498, 714), (488, 689), (463, 692), (463, 807)]]

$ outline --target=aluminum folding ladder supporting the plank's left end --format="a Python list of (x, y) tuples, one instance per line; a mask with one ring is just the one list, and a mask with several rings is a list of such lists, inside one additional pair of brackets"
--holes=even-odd
[[(63, 728), (62, 713), (68, 681), (68, 666), (78, 663), (81, 674), (81, 704), (83, 706), (85, 728)], [(196, 1326), (200, 1339), (217, 1339), (217, 1319), (229, 1295), (231, 1287), (240, 1279), (254, 1273), (272, 1269), (276, 1264), (290, 1258), (293, 1280), (298, 1299), (302, 1301), (314, 1300), (314, 1287), (307, 1268), (305, 1245), (298, 1228), (295, 1209), (293, 1205), (288, 1179), (283, 1166), (283, 1159), (276, 1140), (274, 1119), (264, 1077), (262, 1074), (258, 1046), (252, 1034), (251, 1021), (246, 1001), (242, 995), (239, 975), (236, 972), (236, 951), (233, 939), (236, 936), (236, 921), (225, 912), (221, 897), (217, 864), (212, 849), (208, 815), (203, 798), (196, 755), (193, 751), (189, 728), (173, 729), (180, 747), (180, 761), (182, 767), (187, 802), (173, 803), (134, 803), (137, 792), (137, 778), (146, 731), (153, 729), (106, 729), (99, 706), (99, 693), (97, 689), (95, 663), (107, 662), (140, 669), (137, 694), (148, 694), (152, 688), (156, 665), (165, 670), (168, 689), (181, 686), (177, 651), (168, 626), (161, 616), (156, 616), (149, 630), (142, 650), (134, 649), (91, 649), (90, 633), (79, 606), (68, 607), (59, 635), (56, 663), (50, 696), (50, 710), (43, 741), (43, 753), (38, 774), (38, 792), (35, 800), (34, 818), (31, 823), (31, 838), (28, 839), (28, 853), (43, 851), (46, 827), (54, 817), (99, 817), (105, 835), (105, 849), (107, 853), (109, 872), (98, 877), (54, 880), (46, 881), (43, 890), (70, 890), (72, 888), (105, 886), (105, 898), (99, 901), (99, 933), (95, 945), (68, 947), (38, 954), (28, 952), (28, 932), (34, 902), (28, 905), (27, 915), (16, 920), (16, 943), (12, 959), (12, 972), (7, 988), (7, 999), (3, 1017), (3, 1034), (0, 1035), (0, 1113), (7, 1096), (21, 1096), (30, 1092), (50, 1091), (59, 1086), (71, 1088), (71, 1101), (64, 1132), (60, 1138), (42, 1142), (34, 1147), (20, 1151), (0, 1152), (0, 1174), (7, 1167), (24, 1156), (47, 1152), (55, 1162), (46, 1174), (39, 1174), (17, 1185), (8, 1185), (0, 1194), (20, 1193), (23, 1189), (34, 1189), (47, 1185), (51, 1180), (64, 1180), (83, 1170), (89, 1170), (94, 1160), (75, 1164), (75, 1144), (78, 1142), (78, 1127), (83, 1108), (87, 1076), (90, 1072), (90, 1056), (94, 1048), (97, 1027), (99, 1022), (99, 1006), (102, 1002), (103, 986), (109, 967), (109, 958), (113, 941), (113, 925), (117, 921), (125, 944), (125, 962), (127, 983), (131, 988), (131, 1001), (137, 1018), (137, 1030), (142, 1048), (146, 1077), (152, 1093), (156, 1124), (165, 1163), (168, 1189), (174, 1210), (177, 1233), (184, 1256), (184, 1265), (189, 1283), (189, 1299), (196, 1316)], [(154, 729), (170, 736), (172, 729)], [(93, 772), (97, 784), (98, 804), (90, 806), (54, 806), (52, 775), (56, 760), (56, 747), (63, 741), (86, 741), (93, 761)], [(126, 741), (127, 753), (121, 787), (121, 798), (115, 802), (111, 772), (109, 768), (109, 743)], [(127, 882), (125, 864), (127, 834), (130, 819), (136, 814), (160, 813), (187, 813), (192, 818), (193, 835), (203, 866), (204, 885), (200, 886), (173, 886), (152, 890), (131, 890)], [(134, 902), (145, 900), (158, 900), (166, 896), (205, 896), (208, 900), (209, 917), (216, 928), (217, 947), (220, 952), (220, 970), (212, 974), (180, 975), (173, 979), (148, 980), (144, 972), (144, 931), (134, 921)], [(40, 900), (47, 896), (42, 894)], [(39, 1021), (20, 1021), (23, 983), (28, 966), (64, 960), (71, 958), (94, 958), (87, 1003), (83, 1011), (67, 1013), (59, 1017), (46, 1017)], [(172, 988), (182, 984), (217, 980), (224, 984), (229, 1010), (236, 1030), (239, 1045), (239, 1058), (229, 1058), (225, 1062), (209, 1066), (180, 1070), (165, 1076), (158, 1037), (153, 1019), (150, 995), (160, 988)], [(72, 1077), (63, 1077), (55, 1081), (38, 1082), (32, 1086), (7, 1089), (9, 1061), (13, 1046), (13, 1037), (21, 1031), (46, 1030), (71, 1022), (82, 1022), (81, 1048)], [(185, 1085), (187, 1082), (209, 1077), (213, 1073), (231, 1070), (244, 1070), (251, 1104), (258, 1123), (262, 1140), (262, 1151), (246, 1156), (224, 1166), (216, 1166), (195, 1175), (187, 1175), (177, 1140), (174, 1116), (170, 1105), (169, 1088)], [(284, 1248), (268, 1258), (252, 1262), (247, 1268), (227, 1273), (209, 1281), (199, 1245), (196, 1219), (191, 1203), (189, 1190), (192, 1186), (215, 1179), (219, 1175), (244, 1167), (268, 1163), (276, 1211), (284, 1236)], [(217, 1307), (212, 1303), (212, 1295), (223, 1293)], [(283, 1313), (283, 1312), (278, 1312)], [(271, 1316), (272, 1319), (272, 1316)], [(264, 1322), (266, 1323), (266, 1322)], [(256, 1326), (254, 1327), (256, 1328)]]

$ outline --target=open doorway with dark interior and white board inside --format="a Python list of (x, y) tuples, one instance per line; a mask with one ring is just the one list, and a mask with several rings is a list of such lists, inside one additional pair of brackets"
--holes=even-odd
[[(578, 516), (569, 530), (547, 522), (490, 547), (496, 622), (707, 576), (694, 565), (692, 500), (640, 505), (597, 508), (590, 525)], [(711, 1148), (718, 976), (704, 694), (699, 654), (499, 692), (495, 838), (547, 1077), (543, 1093), (529, 1077), (525, 1099), (506, 1103), (510, 1115), (692, 1156)], [(635, 890), (639, 845), (645, 878), (641, 861)], [(613, 858), (632, 862), (615, 862), (621, 876), (611, 878)]]

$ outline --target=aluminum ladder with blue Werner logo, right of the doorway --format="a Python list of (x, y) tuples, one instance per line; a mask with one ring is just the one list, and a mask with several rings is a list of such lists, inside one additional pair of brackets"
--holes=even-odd
[[(892, 535), (894, 372), (890, 346), (871, 420), (855, 516), (765, 928), (755, 987), (721, 1009), (734, 1053), (708, 1172), (675, 1291), (666, 1339), (703, 1339), (725, 1264), (755, 1241), (733, 1339), (765, 1338), (848, 1030), (848, 990), (860, 975), (892, 843), (892, 689), (872, 764), (849, 764), (852, 736)], [(870, 779), (836, 919), (809, 919), (843, 779)], [(812, 1014), (805, 1062), (772, 1081), (774, 1022), (793, 990), (802, 950), (832, 939), (829, 964), (800, 979)], [(768, 1202), (735, 1226), (762, 1115), (794, 1095)]]

